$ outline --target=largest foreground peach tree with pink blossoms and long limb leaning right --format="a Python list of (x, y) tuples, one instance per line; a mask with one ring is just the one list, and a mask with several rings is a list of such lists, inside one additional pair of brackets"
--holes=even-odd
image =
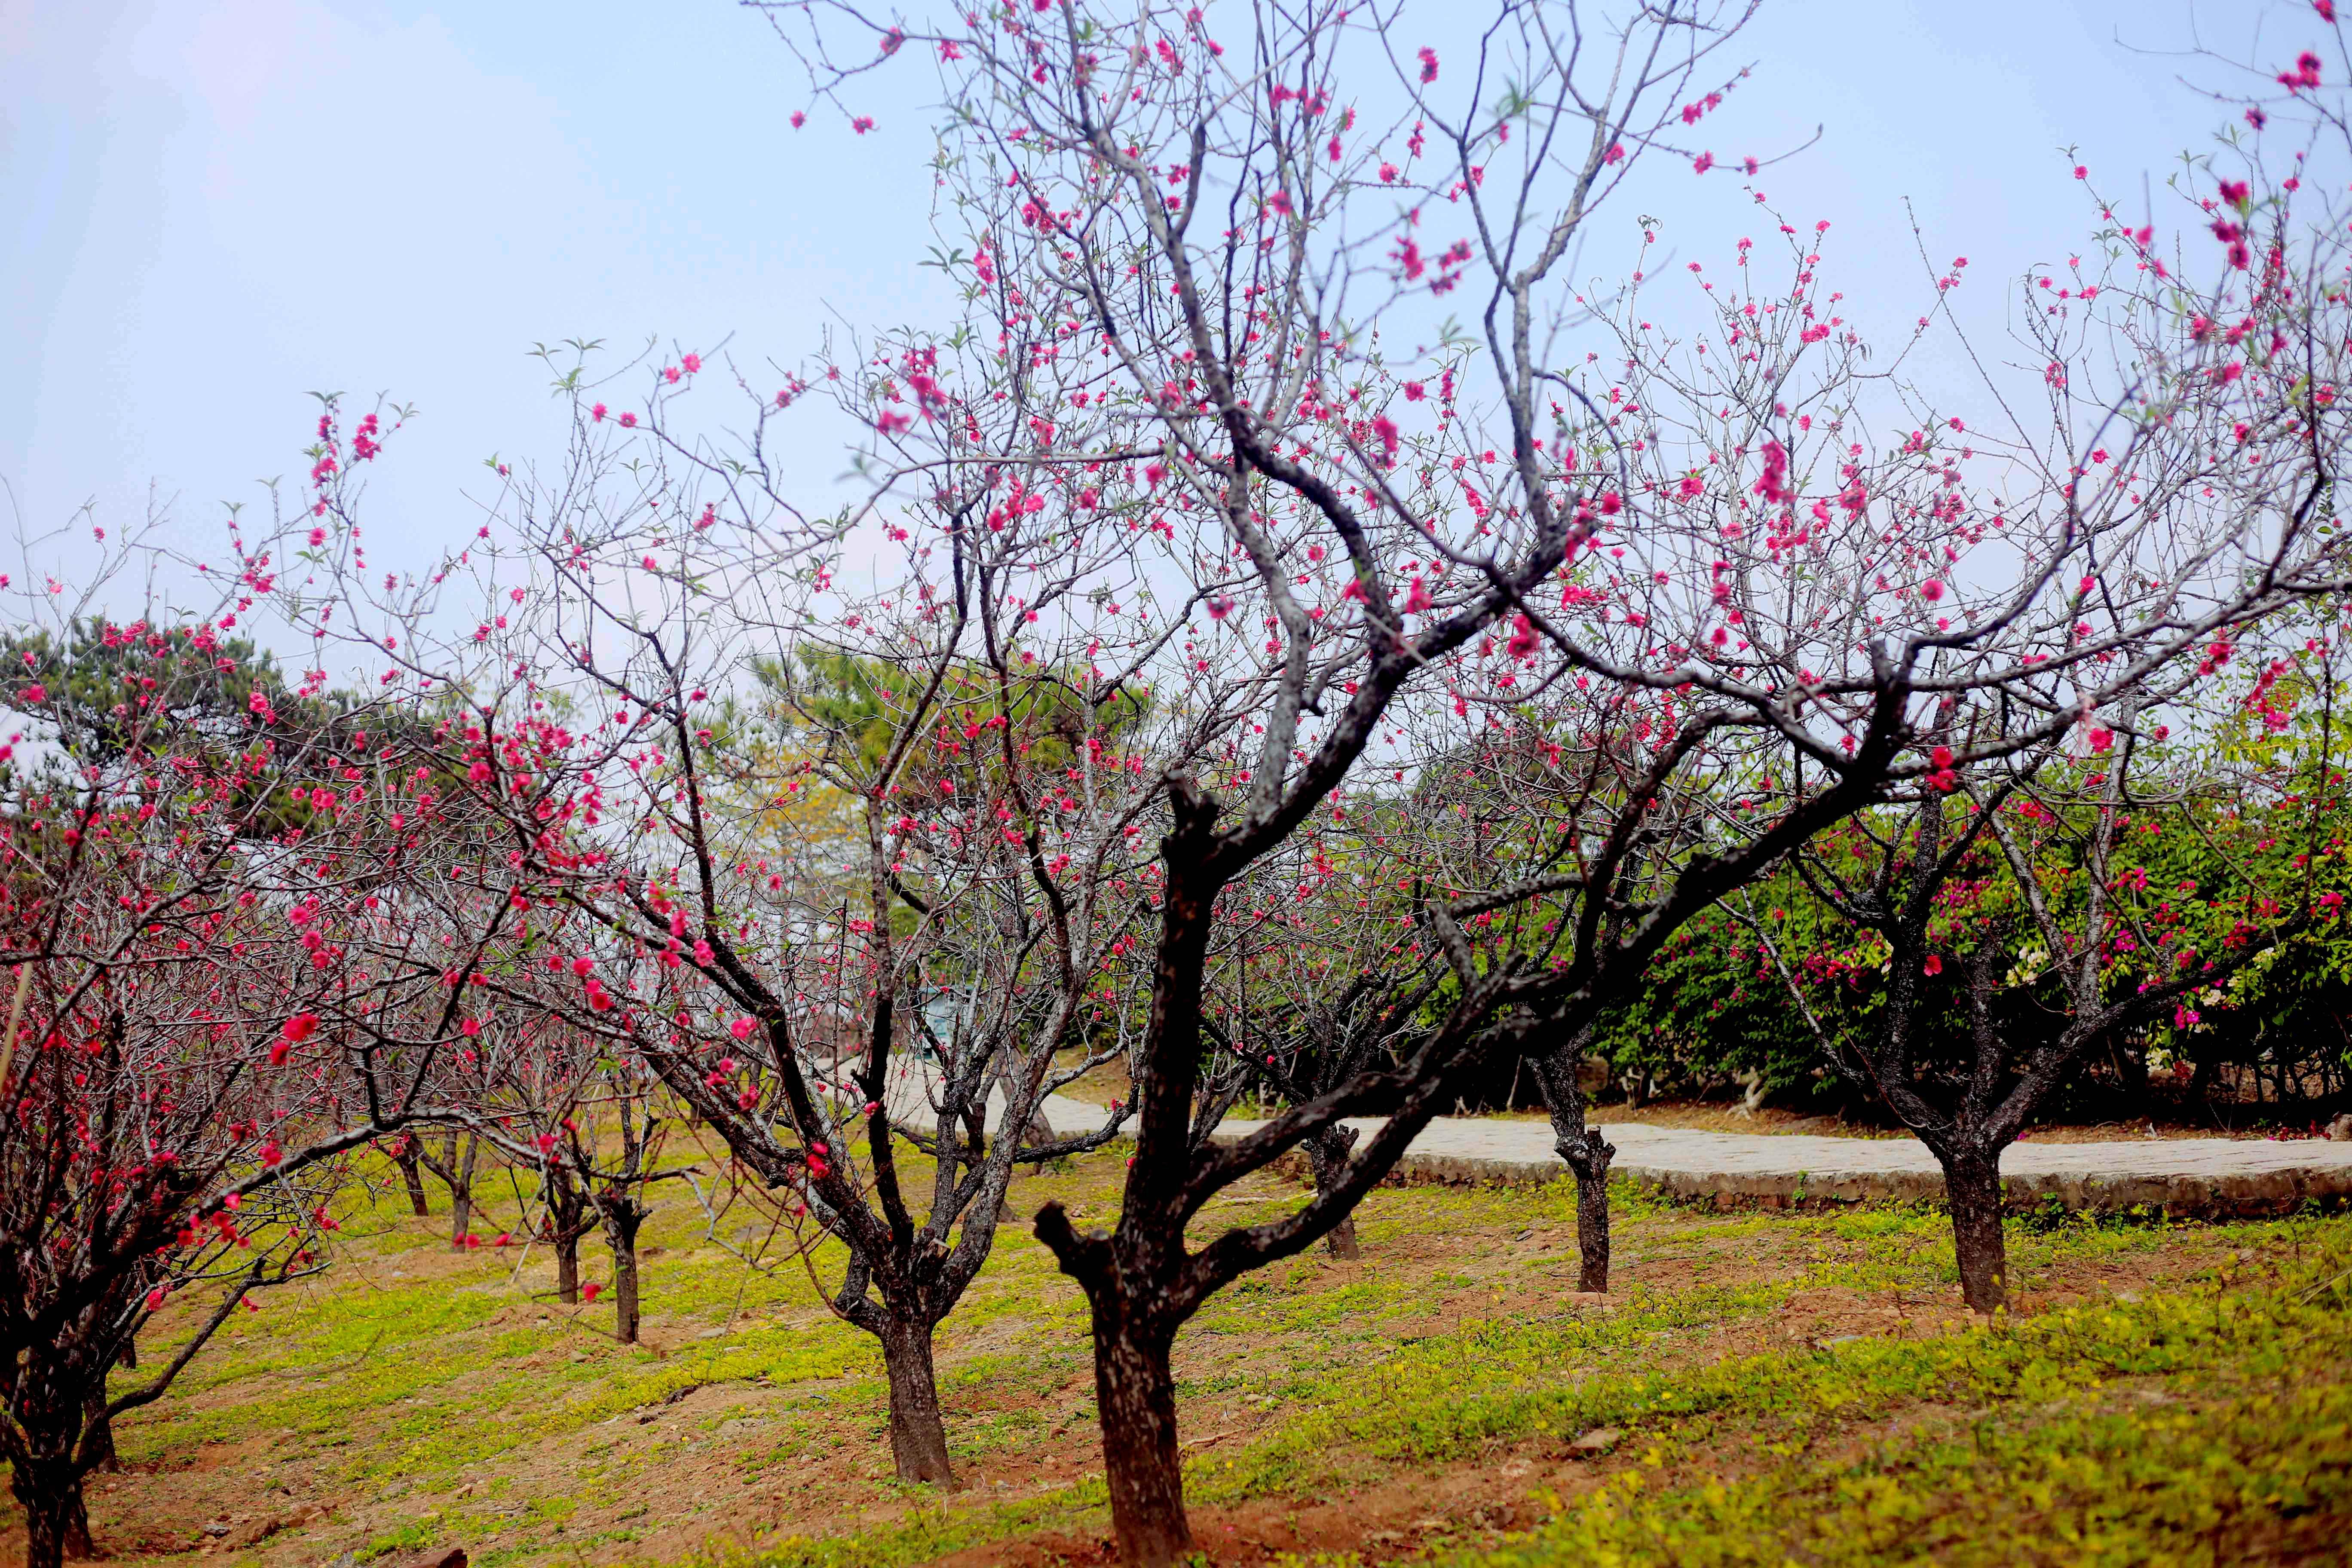
[[(1740, 7), (1501, 5), (1454, 61), (1409, 9), (767, 9), (818, 101), (938, 61), (962, 341), (1033, 388), (1016, 484), (1011, 449), (934, 456), (924, 383), (868, 367), (875, 461), (1007, 463), (1004, 527), (1124, 536), (1167, 628), (1152, 691), (1188, 724), (1160, 757), (1136, 1157), (1108, 1234), (1037, 1220), (1094, 1312), (1129, 1561), (1190, 1544), (1176, 1328), (1331, 1232), (1451, 1072), (1573, 1041), (1684, 922), (1844, 816), (2070, 733), (2338, 583), (2333, 261), (2234, 216), (2173, 270), (2110, 221), (2091, 270), (2037, 277), (2046, 409), (2009, 397), (1990, 435), (1865, 357), (1818, 230), (1762, 193), (1766, 244), (1672, 284), (1672, 313), (1639, 259), (1576, 287), (1576, 242), (1639, 172), (1762, 167), (1698, 143)], [(2293, 308), (2241, 277), (2293, 280)], [(2190, 294), (2230, 315), (2176, 313)], [(1980, 708), (1999, 722), (1962, 722)], [(1338, 790), (1505, 743), (1541, 759), (1512, 764), (1508, 844), (1421, 846), (1442, 1018), (1235, 1143), (1197, 1138), (1228, 893)], [(1388, 1121), (1294, 1215), (1185, 1239), (1221, 1187), (1367, 1112)]]

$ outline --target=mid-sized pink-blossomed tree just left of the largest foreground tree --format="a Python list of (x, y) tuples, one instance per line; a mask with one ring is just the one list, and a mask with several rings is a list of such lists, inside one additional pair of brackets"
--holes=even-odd
[[(503, 527), (414, 583), (343, 569), (315, 609), (395, 686), (454, 693), (440, 766), (499, 823), (529, 933), (503, 1001), (717, 1138), (713, 1206), (762, 1201), (786, 1258), (847, 1248), (823, 1293), (880, 1340), (917, 1481), (953, 1481), (931, 1333), (1014, 1173), (1127, 1119), (1040, 1105), (1127, 1048), (1105, 964), (1152, 898), (1145, 759), (1192, 724), (1138, 675), (1171, 628), (1129, 531), (1044, 512), (1077, 470), (1025, 369), (1051, 336), (844, 353), (724, 449), (689, 435), (691, 400), (736, 367), (675, 355), (626, 421), (614, 381), (567, 369), (574, 447), (501, 475)], [(807, 517), (764, 454), (811, 388), (898, 435), (913, 400), (936, 449)], [(485, 611), (449, 635), (459, 583)]]

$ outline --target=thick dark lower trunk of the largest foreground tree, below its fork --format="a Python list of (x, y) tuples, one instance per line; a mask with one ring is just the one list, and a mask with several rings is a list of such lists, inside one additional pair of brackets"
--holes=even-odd
[[(1103, 1286), (1117, 1291), (1117, 1284)], [(1117, 1312), (1117, 1309), (1115, 1309)], [(1103, 1422), (1103, 1476), (1110, 1535), (1129, 1568), (1167, 1568), (1192, 1552), (1183, 1514), (1183, 1455), (1176, 1450), (1174, 1333), (1117, 1312), (1094, 1314), (1094, 1399)]]

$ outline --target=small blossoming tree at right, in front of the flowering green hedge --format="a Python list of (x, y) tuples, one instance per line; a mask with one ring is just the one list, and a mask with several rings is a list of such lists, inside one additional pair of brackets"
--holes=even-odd
[[(2256, 661), (2251, 689), (2209, 654), (2112, 724), (1990, 764), (1938, 748), (1905, 799), (1792, 856), (1788, 905), (1740, 907), (1828, 1058), (1943, 1164), (1978, 1312), (2009, 1305), (2002, 1152), (2070, 1077), (2340, 940), (2338, 644), (2305, 644)], [(2249, 745), (2270, 722), (2293, 731)]]

